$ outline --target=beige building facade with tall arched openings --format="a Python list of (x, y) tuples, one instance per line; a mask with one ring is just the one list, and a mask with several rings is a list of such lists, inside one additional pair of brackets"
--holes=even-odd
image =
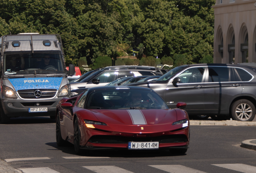
[(214, 63), (256, 62), (256, 0), (216, 0)]

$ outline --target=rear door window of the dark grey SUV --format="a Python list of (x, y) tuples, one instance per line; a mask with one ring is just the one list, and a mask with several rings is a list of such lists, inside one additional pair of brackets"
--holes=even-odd
[(208, 82), (229, 82), (229, 70), (227, 67), (209, 66)]

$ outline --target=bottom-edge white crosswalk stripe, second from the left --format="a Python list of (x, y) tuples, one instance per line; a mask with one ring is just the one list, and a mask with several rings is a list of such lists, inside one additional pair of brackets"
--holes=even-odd
[(122, 169), (116, 166), (83, 166), (86, 169), (97, 173), (133, 173), (126, 169)]

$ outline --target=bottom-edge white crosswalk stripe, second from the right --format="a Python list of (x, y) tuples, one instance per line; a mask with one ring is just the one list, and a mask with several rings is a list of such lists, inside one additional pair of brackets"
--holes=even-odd
[(151, 167), (169, 172), (169, 173), (184, 173), (184, 172), (188, 172), (188, 173), (205, 173), (203, 171), (199, 171), (196, 169), (192, 169), (189, 167), (185, 167), (182, 165), (149, 165)]

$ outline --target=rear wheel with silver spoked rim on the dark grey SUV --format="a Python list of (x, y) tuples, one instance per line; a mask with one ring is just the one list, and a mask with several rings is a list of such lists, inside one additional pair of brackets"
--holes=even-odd
[(255, 106), (246, 99), (235, 101), (231, 105), (231, 115), (233, 120), (252, 121), (255, 117)]

